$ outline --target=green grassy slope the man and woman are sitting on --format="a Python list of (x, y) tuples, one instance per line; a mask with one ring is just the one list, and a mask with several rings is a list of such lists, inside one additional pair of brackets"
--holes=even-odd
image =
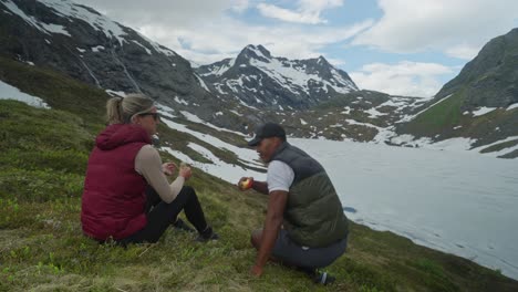
[[(46, 81), (55, 82), (54, 73), (22, 66), (23, 79), (10, 79), (19, 87), (25, 88), (25, 79), (41, 74), (50, 74)], [(79, 218), (92, 138), (103, 127), (102, 106), (74, 107), (84, 85), (55, 76), (62, 79), (60, 87), (33, 86), (32, 91), (54, 109), (0, 101), (0, 291), (518, 289), (516, 281), (468, 260), (354, 223), (348, 254), (328, 269), (339, 277), (333, 286), (314, 285), (277, 264), (269, 264), (262, 278), (251, 278), (248, 269), (256, 253), (249, 232), (261, 226), (266, 199), (241, 194), (200, 170), (189, 184), (198, 190), (220, 241), (198, 244), (193, 234), (169, 230), (157, 244), (100, 246), (82, 236)], [(70, 94), (60, 88), (69, 88)], [(104, 93), (86, 90), (91, 92), (84, 97), (104, 103)], [(168, 138), (188, 137), (172, 131)], [(164, 154), (164, 159), (169, 158)]]

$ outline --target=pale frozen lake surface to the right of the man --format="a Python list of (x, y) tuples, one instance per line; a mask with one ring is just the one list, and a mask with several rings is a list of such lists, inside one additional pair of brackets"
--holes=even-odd
[(518, 279), (518, 160), (289, 139), (328, 170), (346, 215)]

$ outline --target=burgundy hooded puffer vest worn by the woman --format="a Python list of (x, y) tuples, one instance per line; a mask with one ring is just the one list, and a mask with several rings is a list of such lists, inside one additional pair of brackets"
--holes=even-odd
[(151, 144), (139, 126), (107, 126), (89, 158), (81, 207), (83, 232), (97, 240), (126, 238), (146, 226), (147, 181), (135, 171), (138, 150)]

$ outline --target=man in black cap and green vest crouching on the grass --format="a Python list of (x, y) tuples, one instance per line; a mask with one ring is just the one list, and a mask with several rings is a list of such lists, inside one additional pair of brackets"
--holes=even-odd
[(307, 153), (291, 146), (278, 124), (259, 126), (248, 145), (268, 164), (267, 181), (244, 177), (238, 187), (269, 195), (265, 227), (251, 236), (251, 243), (258, 250), (251, 273), (261, 275), (271, 257), (304, 271), (315, 282), (332, 282), (332, 277), (318, 273), (317, 269), (331, 264), (345, 252), (349, 229), (325, 169)]

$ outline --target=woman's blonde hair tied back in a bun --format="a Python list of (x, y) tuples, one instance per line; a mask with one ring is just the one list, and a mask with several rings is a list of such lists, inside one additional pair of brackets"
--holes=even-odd
[(113, 97), (106, 103), (108, 125), (130, 124), (133, 116), (146, 113), (153, 107), (153, 101), (142, 93), (131, 93), (126, 97)]

